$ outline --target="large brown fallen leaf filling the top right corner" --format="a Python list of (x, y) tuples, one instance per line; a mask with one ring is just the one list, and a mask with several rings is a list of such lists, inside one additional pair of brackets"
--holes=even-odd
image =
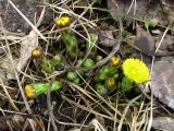
[(132, 0), (108, 0), (108, 9), (115, 21), (125, 16), (126, 26), (134, 20), (148, 21), (154, 25), (167, 25), (169, 21), (173, 22), (174, 20), (172, 7), (167, 8), (169, 3), (172, 4), (172, 2), (161, 5), (161, 1), (164, 0), (136, 0), (136, 2)]

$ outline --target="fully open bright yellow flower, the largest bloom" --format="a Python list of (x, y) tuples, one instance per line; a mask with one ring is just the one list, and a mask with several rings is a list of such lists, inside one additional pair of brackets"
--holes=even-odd
[(124, 75), (139, 84), (150, 79), (148, 67), (139, 59), (126, 59), (123, 64)]

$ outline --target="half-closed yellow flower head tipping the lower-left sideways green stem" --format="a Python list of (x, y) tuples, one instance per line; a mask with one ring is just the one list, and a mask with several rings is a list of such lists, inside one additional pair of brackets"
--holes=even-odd
[(35, 98), (35, 90), (33, 85), (28, 84), (25, 86), (25, 94), (28, 98)]

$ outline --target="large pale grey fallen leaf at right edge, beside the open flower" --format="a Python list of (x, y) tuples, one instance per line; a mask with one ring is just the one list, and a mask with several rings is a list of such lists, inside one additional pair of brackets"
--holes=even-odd
[(149, 82), (153, 95), (174, 109), (174, 62), (156, 61)]

